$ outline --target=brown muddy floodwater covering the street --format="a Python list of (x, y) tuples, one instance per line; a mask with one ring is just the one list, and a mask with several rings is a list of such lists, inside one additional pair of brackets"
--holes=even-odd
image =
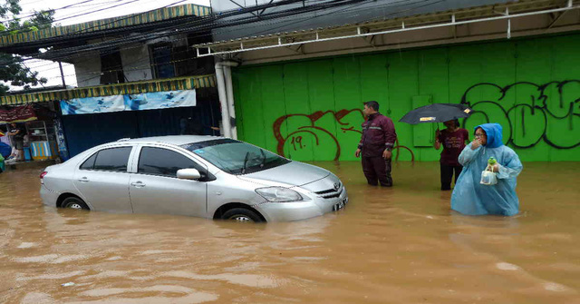
[(38, 170), (0, 174), (0, 302), (580, 303), (580, 163), (527, 163), (513, 218), (450, 212), (435, 162), (392, 189), (318, 165), (347, 208), (262, 225), (57, 210)]

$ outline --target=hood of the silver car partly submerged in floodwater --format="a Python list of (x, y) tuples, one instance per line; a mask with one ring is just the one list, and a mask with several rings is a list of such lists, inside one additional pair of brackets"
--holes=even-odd
[(238, 175), (237, 178), (267, 186), (295, 187), (324, 179), (328, 175), (330, 175), (330, 172), (327, 170), (307, 163), (288, 162), (261, 172)]

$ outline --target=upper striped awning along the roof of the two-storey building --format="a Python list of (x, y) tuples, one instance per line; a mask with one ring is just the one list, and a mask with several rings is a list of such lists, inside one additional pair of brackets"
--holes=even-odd
[(205, 16), (211, 8), (201, 5), (178, 5), (119, 17), (95, 20), (76, 25), (55, 26), (38, 31), (0, 36), (0, 45), (22, 44), (65, 34), (83, 34), (131, 25), (143, 25), (188, 15)]

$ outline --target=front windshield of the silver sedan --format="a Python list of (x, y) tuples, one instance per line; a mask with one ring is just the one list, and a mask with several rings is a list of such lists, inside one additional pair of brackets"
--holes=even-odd
[(181, 147), (196, 153), (222, 171), (236, 175), (259, 172), (291, 162), (273, 152), (231, 139), (193, 142)]

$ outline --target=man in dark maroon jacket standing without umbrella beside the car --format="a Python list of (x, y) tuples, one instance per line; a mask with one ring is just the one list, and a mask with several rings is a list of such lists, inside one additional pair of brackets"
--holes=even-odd
[(362, 123), (362, 138), (354, 155), (362, 156), (362, 172), (370, 185), (380, 182), (383, 187), (391, 187), (391, 150), (397, 140), (395, 126), (391, 118), (379, 113), (377, 102), (364, 103), (363, 113), (367, 119)]

